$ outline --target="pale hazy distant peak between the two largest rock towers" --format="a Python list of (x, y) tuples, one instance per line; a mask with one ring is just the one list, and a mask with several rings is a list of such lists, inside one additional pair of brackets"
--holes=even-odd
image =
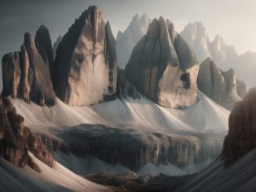
[(150, 23), (151, 19), (146, 14), (135, 15), (126, 30), (117, 33), (116, 53), (121, 69), (126, 67), (134, 46), (147, 33)]

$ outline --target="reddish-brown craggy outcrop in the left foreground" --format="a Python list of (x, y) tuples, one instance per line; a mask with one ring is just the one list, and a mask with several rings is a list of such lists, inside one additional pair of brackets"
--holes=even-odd
[(0, 157), (13, 165), (25, 165), (40, 171), (28, 155), (30, 150), (35, 157), (53, 167), (53, 159), (46, 147), (24, 126), (24, 118), (16, 114), (13, 104), (5, 97), (0, 98)]

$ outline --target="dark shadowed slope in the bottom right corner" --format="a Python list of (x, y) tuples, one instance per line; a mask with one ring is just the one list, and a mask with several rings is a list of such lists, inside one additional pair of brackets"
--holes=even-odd
[(255, 191), (256, 149), (225, 169), (218, 159), (193, 175), (178, 191)]

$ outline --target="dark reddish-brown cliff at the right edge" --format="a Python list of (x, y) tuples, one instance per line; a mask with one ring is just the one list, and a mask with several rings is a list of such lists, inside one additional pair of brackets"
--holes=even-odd
[(256, 147), (256, 89), (251, 89), (229, 116), (229, 134), (225, 137), (222, 157), (232, 165)]

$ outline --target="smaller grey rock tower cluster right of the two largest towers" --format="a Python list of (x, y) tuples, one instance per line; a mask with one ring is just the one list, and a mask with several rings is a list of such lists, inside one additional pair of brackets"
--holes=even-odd
[(242, 81), (236, 83), (237, 80), (235, 71), (221, 71), (209, 57), (200, 64), (197, 78), (199, 90), (228, 110), (232, 110), (247, 89)]

